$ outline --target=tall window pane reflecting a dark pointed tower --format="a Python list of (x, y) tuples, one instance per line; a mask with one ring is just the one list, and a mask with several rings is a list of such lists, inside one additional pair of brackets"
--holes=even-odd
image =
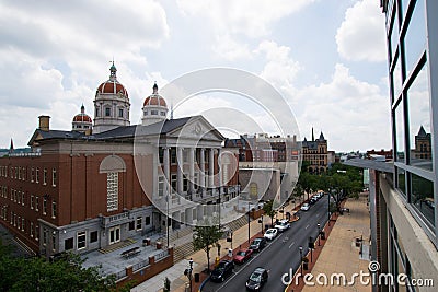
[(415, 78), (407, 91), (410, 113), (411, 165), (433, 170), (429, 80), (427, 63)]

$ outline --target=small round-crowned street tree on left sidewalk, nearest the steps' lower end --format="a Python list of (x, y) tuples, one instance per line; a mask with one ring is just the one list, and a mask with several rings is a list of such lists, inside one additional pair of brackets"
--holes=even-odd
[(219, 224), (205, 221), (203, 225), (195, 226), (193, 232), (193, 246), (195, 250), (204, 249), (207, 254), (207, 270), (210, 271), (210, 250), (218, 244), (222, 237), (222, 231)]

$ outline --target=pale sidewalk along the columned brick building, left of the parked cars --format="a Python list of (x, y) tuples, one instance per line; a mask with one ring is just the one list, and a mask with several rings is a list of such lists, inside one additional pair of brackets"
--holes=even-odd
[[(281, 214), (279, 213), (278, 219), (283, 219), (286, 215), (286, 212), (293, 211), (293, 207), (296, 206), (296, 210), (300, 206), (300, 201), (296, 203), (290, 203), (285, 207), (285, 212)], [(265, 224), (270, 224), (270, 218), (264, 217), (263, 218), (263, 227)], [(263, 236), (262, 234), (262, 223), (258, 223), (258, 220), (252, 220), (250, 223), (250, 241), (256, 236)], [(226, 240), (220, 240), (219, 244), (220, 248), (220, 257), (227, 257), (228, 249), (231, 248), (231, 243), (227, 242)], [(240, 227), (239, 230), (233, 231), (233, 242), (232, 247), (235, 252), (239, 247), (247, 247), (249, 246), (249, 232), (247, 225)], [(218, 249), (214, 247), (210, 250), (210, 266), (215, 264), (215, 258), (218, 256)], [(131, 289), (132, 292), (157, 292), (162, 291), (164, 285), (164, 279), (171, 281), (171, 291), (174, 292), (184, 292), (185, 285), (188, 283), (188, 279), (184, 276), (184, 270), (188, 268), (188, 260), (193, 259), (193, 275), (199, 273), (199, 282), (195, 282), (193, 280), (192, 291), (198, 291), (200, 283), (207, 278), (207, 275), (203, 272), (207, 268), (207, 254), (205, 250), (198, 250), (193, 255), (188, 256), (184, 260), (175, 264), (171, 268), (162, 271), (161, 273), (157, 275), (155, 277), (140, 283), (139, 285)]]

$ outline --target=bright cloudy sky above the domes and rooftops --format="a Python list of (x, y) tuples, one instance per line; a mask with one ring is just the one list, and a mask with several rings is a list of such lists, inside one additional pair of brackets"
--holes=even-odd
[[(39, 115), (59, 130), (71, 129), (81, 104), (93, 117), (94, 93), (113, 58), (129, 93), (131, 124), (139, 122), (154, 81), (162, 87), (199, 69), (235, 68), (278, 91), (301, 139), (313, 127), (331, 150), (391, 148), (377, 0), (0, 0), (0, 148), (11, 138), (25, 147)], [(175, 118), (227, 108), (229, 115), (207, 117), (232, 128), (230, 136), (277, 135), (276, 112), (269, 112), (275, 98), (261, 110), (220, 92), (168, 103)]]

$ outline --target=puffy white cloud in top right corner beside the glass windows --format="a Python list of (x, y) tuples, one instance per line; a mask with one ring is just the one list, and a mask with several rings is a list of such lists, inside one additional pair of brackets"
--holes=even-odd
[(354, 61), (387, 59), (384, 14), (374, 0), (362, 0), (347, 9), (336, 34), (338, 54)]

